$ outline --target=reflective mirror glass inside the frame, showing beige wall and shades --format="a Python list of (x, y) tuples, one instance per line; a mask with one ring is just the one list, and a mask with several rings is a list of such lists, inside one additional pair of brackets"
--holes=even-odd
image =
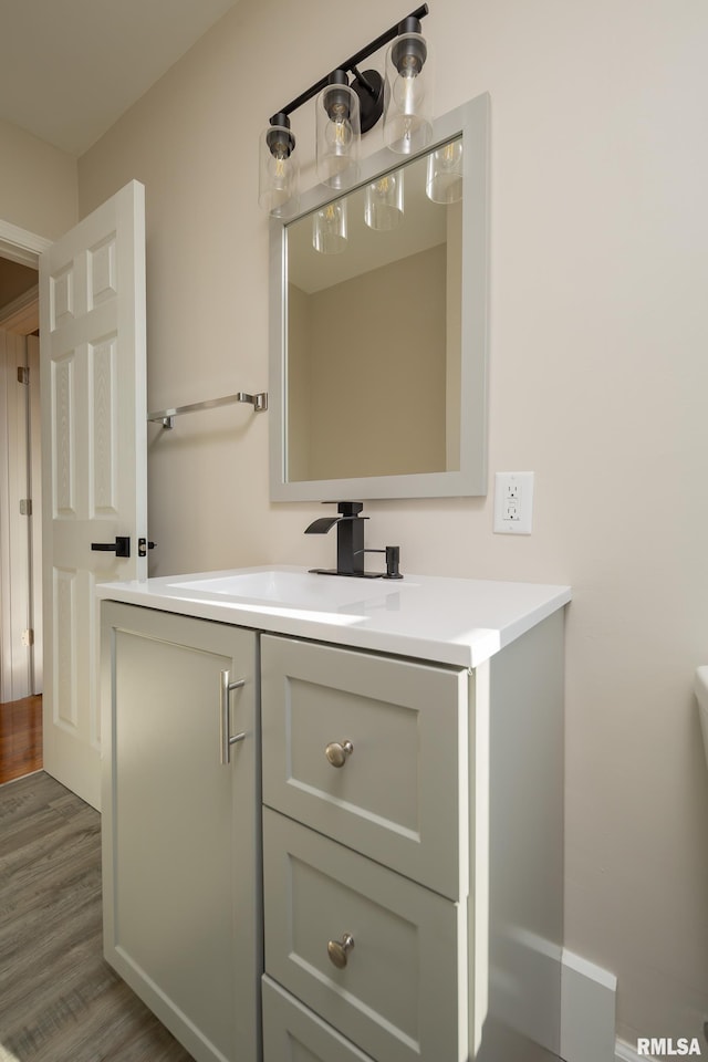
[(287, 227), (287, 479), (460, 468), (462, 139)]

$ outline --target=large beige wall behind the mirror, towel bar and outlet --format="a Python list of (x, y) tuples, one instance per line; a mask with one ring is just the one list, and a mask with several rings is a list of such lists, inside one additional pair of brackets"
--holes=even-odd
[[(372, 502), (404, 571), (569, 582), (566, 943), (618, 976), (618, 1032), (708, 1016), (708, 8), (436, 0), (435, 110), (492, 100), (490, 477), (535, 471), (533, 534), (486, 500)], [(147, 186), (149, 403), (267, 385), (268, 115), (404, 13), (241, 0), (80, 160), (87, 212)], [(308, 119), (306, 122), (304, 119)], [(301, 143), (312, 143), (309, 115)], [(308, 128), (305, 128), (305, 126)], [(27, 223), (27, 221), (25, 221)], [(162, 574), (326, 565), (317, 504), (270, 504), (268, 414), (150, 428)], [(364, 429), (364, 428), (363, 428)]]

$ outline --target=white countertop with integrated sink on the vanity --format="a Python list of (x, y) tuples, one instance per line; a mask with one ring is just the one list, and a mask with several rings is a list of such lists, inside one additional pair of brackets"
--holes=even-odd
[[(235, 576), (289, 585), (301, 600), (227, 594)], [(279, 573), (283, 573), (279, 575)], [(207, 583), (199, 587), (190, 583)], [(210, 584), (210, 585), (208, 585)], [(477, 667), (571, 600), (570, 586), (409, 575), (400, 581), (309, 574), (287, 565), (101, 583), (98, 597), (379, 653)]]

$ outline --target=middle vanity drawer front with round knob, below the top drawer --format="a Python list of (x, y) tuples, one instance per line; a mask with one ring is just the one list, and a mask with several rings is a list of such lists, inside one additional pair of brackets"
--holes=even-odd
[(462, 906), (267, 808), (263, 877), (270, 977), (374, 1059), (467, 1056)]

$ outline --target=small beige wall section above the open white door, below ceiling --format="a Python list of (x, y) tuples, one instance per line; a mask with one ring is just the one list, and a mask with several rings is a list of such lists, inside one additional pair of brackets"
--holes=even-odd
[(0, 118), (0, 220), (48, 240), (76, 222), (76, 159)]

